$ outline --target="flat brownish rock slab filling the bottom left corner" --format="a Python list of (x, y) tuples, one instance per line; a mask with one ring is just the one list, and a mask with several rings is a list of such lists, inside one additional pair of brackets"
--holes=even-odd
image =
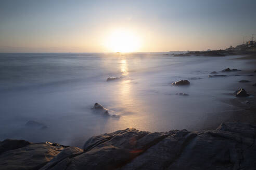
[(39, 169), (63, 149), (62, 146), (37, 143), (8, 150), (0, 154), (0, 167), (1, 169)]

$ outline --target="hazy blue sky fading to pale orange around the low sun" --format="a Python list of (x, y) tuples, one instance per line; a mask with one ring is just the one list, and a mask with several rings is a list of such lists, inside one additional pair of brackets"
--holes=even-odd
[(0, 1), (0, 52), (218, 50), (251, 34), (255, 0)]

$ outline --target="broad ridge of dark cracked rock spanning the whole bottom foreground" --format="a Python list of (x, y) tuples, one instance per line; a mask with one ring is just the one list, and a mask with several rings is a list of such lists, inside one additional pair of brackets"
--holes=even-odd
[[(7, 151), (8, 154), (0, 154), (0, 165), (2, 169), (32, 169), (38, 163), (41, 170), (254, 169), (255, 137), (255, 125), (237, 122), (223, 123), (216, 130), (201, 132), (150, 133), (125, 129), (91, 137), (83, 150), (33, 144), (23, 147), (23, 152), (20, 152), (22, 148)], [(26, 147), (31, 148), (24, 151)], [(42, 150), (45, 157), (39, 154)]]

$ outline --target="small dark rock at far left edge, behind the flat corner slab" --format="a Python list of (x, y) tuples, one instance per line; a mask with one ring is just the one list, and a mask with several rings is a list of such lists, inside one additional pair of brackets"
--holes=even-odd
[(22, 148), (24, 146), (30, 145), (31, 143), (26, 140), (17, 140), (17, 139), (5, 139), (0, 142), (0, 154), (7, 150), (14, 150)]

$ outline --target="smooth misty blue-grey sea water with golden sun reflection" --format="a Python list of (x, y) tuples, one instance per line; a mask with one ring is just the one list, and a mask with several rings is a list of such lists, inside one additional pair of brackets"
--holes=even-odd
[[(200, 130), (236, 110), (232, 83), (239, 73), (209, 78), (212, 71), (244, 69), (239, 56), (173, 57), (164, 53), (0, 54), (0, 140), (20, 138), (82, 147), (92, 135), (127, 127), (145, 131)], [(106, 81), (108, 77), (119, 80)], [(188, 79), (190, 86), (171, 83)], [(187, 93), (188, 96), (175, 95)], [(96, 114), (100, 103), (120, 118)], [(26, 126), (29, 121), (47, 126)]]

